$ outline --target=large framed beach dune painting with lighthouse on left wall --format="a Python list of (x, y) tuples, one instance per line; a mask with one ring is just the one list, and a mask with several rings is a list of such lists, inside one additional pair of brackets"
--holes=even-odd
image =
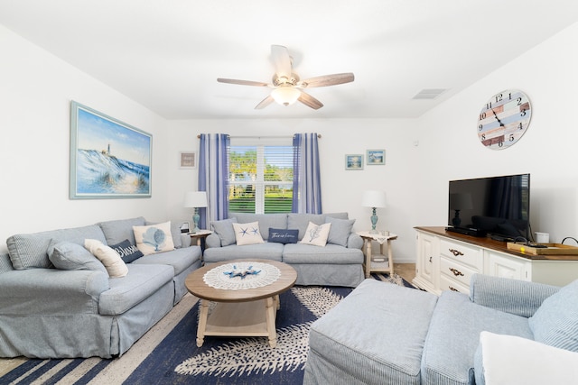
[(70, 102), (70, 199), (151, 197), (153, 136)]

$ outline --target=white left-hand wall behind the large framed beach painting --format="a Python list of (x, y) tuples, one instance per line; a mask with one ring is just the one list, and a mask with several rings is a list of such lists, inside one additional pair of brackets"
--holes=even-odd
[[(163, 220), (163, 119), (1, 25), (0, 50), (0, 239), (137, 215)], [(153, 134), (152, 198), (69, 199), (70, 100)]]

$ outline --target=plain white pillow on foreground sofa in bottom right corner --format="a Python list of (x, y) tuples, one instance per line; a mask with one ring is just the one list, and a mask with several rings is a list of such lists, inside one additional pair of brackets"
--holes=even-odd
[(514, 335), (481, 332), (486, 385), (570, 384), (578, 378), (578, 353)]

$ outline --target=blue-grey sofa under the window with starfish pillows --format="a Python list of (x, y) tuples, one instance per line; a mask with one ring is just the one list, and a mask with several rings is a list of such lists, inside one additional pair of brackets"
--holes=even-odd
[[(264, 243), (239, 245), (234, 223), (258, 223)], [(331, 223), (325, 246), (303, 243), (274, 242), (276, 230), (295, 230), (297, 240), (305, 236), (309, 223)], [(229, 219), (212, 222), (213, 234), (206, 239), (205, 263), (238, 258), (283, 261), (297, 271), (297, 285), (356, 287), (365, 279), (363, 274), (363, 240), (352, 233), (355, 220), (347, 213), (334, 214), (230, 214)]]

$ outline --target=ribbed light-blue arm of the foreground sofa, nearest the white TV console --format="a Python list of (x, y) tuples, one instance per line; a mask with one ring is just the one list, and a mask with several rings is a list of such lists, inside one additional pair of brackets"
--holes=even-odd
[(544, 283), (474, 274), (470, 281), (470, 300), (484, 307), (530, 317), (545, 298), (559, 289)]

